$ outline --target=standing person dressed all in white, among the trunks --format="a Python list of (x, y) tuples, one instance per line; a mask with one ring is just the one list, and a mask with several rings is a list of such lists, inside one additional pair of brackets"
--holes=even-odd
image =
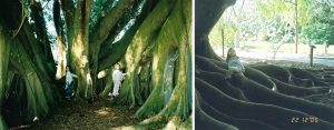
[(121, 86), (121, 80), (124, 76), (126, 76), (126, 73), (122, 73), (119, 66), (116, 64), (115, 70), (112, 72), (114, 90), (111, 96), (117, 97), (119, 94), (118, 91)]

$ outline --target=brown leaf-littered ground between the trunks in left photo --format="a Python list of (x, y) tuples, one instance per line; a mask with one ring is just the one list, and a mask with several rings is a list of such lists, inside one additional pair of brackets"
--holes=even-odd
[(132, 116), (138, 108), (111, 104), (111, 98), (95, 100), (92, 104), (65, 100), (50, 118), (28, 129), (32, 130), (106, 130), (139, 122)]

